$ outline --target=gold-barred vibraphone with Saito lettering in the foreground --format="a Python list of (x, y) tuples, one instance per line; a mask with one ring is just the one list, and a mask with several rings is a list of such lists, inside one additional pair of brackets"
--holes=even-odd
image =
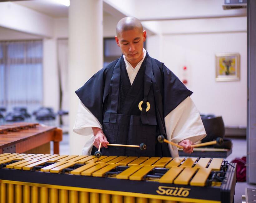
[(232, 203), (221, 158), (0, 154), (0, 202)]

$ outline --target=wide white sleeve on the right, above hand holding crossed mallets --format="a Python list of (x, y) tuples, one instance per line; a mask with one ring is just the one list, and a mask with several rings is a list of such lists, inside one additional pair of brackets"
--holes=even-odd
[[(167, 139), (174, 143), (184, 139), (195, 143), (206, 136), (199, 111), (190, 97), (184, 99), (165, 117), (165, 128)], [(169, 144), (169, 148), (172, 157), (179, 156), (177, 147)]]

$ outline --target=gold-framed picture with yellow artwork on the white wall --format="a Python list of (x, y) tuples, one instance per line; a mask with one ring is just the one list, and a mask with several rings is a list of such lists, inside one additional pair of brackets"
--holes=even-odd
[(215, 54), (216, 81), (240, 80), (240, 54)]

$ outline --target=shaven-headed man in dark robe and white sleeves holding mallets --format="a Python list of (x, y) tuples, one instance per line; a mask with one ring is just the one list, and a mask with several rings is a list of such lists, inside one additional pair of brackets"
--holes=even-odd
[[(74, 132), (93, 133), (83, 153), (90, 153), (93, 144), (94, 154), (101, 143), (107, 156), (177, 157), (176, 147), (157, 142), (160, 134), (191, 153), (193, 142), (206, 136), (192, 92), (143, 49), (146, 31), (138, 19), (121, 19), (115, 39), (123, 55), (76, 91), (80, 104)], [(109, 143), (145, 143), (147, 149), (108, 147)]]

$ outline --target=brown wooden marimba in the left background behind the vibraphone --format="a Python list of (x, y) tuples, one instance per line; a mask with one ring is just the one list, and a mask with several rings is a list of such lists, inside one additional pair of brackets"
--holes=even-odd
[(54, 143), (54, 153), (58, 154), (62, 130), (38, 123), (0, 125), (0, 154), (50, 153), (50, 141)]

